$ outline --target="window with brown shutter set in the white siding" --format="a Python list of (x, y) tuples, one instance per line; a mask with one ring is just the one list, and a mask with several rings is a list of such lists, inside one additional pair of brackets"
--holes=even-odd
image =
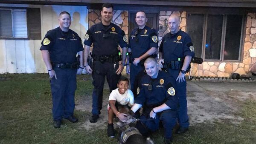
[(0, 9), (1, 39), (41, 39), (40, 9)]

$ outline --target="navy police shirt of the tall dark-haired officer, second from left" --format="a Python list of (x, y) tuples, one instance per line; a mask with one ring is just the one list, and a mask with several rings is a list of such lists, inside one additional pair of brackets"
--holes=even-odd
[(105, 27), (102, 22), (91, 26), (84, 36), (84, 45), (92, 43), (93, 55), (97, 56), (116, 56), (118, 44), (122, 48), (128, 45), (125, 32), (119, 26), (111, 23)]

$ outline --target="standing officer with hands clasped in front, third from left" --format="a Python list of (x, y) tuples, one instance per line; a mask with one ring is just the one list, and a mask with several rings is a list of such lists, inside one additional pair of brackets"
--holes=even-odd
[[(131, 52), (130, 66), (126, 66), (126, 72), (130, 74), (131, 91), (134, 96), (137, 96), (137, 88), (139, 81), (144, 73), (144, 61), (149, 56), (153, 55), (157, 51), (157, 32), (155, 29), (146, 26), (147, 17), (145, 12), (139, 11), (136, 13), (135, 21), (138, 28), (133, 29), (129, 37), (128, 52)], [(127, 63), (129, 58), (127, 58)], [(130, 71), (131, 70), (131, 71)]]

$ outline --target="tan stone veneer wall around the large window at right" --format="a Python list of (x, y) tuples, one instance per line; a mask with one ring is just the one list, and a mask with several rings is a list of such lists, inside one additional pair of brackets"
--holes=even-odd
[[(186, 12), (173, 12), (180, 16), (180, 29), (186, 32)], [(160, 11), (159, 20), (159, 43), (163, 36), (170, 32), (164, 26), (164, 20), (171, 11)], [(202, 64), (192, 63), (192, 76), (230, 77), (233, 72), (240, 75), (247, 72), (256, 72), (256, 13), (248, 13), (246, 22), (246, 37), (244, 39), (244, 51), (242, 52), (242, 62), (203, 62)], [(189, 75), (189, 74), (188, 74)]]

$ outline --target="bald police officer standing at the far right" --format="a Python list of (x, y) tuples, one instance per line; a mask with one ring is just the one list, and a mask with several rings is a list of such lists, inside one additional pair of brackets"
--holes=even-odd
[(170, 32), (167, 33), (159, 47), (160, 67), (166, 68), (166, 71), (177, 81), (177, 91), (179, 96), (178, 122), (180, 128), (177, 133), (185, 133), (189, 128), (189, 117), (187, 114), (186, 100), (186, 71), (190, 66), (191, 58), (194, 57), (194, 47), (188, 34), (179, 29), (180, 18), (172, 14), (168, 19)]

